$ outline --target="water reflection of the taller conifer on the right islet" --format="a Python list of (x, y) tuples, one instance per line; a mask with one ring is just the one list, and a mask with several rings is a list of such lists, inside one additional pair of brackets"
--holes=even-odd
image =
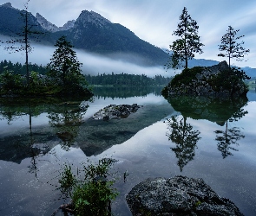
[(176, 147), (171, 149), (178, 159), (177, 164), (182, 172), (185, 165), (194, 158), (194, 149), (196, 148), (196, 143), (200, 140), (200, 131), (193, 130), (193, 126), (187, 124), (187, 118), (183, 117), (179, 121), (174, 116), (167, 119), (167, 129), (170, 130), (170, 132), (167, 132), (168, 140), (176, 143)]

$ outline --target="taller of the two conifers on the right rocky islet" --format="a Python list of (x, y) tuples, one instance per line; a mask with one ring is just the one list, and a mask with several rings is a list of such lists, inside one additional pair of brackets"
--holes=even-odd
[[(202, 54), (201, 47), (204, 46), (200, 42), (200, 36), (198, 35), (199, 26), (190, 15), (187, 14), (187, 8), (184, 7), (180, 16), (181, 22), (178, 23), (178, 29), (174, 31), (173, 35), (181, 37), (170, 45), (170, 49), (173, 52), (170, 56), (170, 60), (167, 63), (167, 69), (185, 67), (187, 68), (187, 61), (194, 58), (194, 53)], [(185, 66), (183, 65), (185, 61)]]

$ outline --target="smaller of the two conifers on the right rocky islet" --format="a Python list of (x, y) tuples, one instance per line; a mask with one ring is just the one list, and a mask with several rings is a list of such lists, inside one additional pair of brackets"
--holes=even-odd
[(237, 42), (240, 38), (244, 37), (245, 35), (237, 36), (239, 30), (234, 30), (231, 26), (228, 26), (226, 30), (227, 33), (222, 36), (221, 44), (219, 45), (219, 50), (226, 52), (226, 54), (220, 53), (218, 56), (220, 57), (227, 57), (228, 58), (228, 65), (230, 67), (231, 59), (235, 60), (243, 60), (245, 55), (250, 52), (250, 49), (244, 48), (244, 41)]

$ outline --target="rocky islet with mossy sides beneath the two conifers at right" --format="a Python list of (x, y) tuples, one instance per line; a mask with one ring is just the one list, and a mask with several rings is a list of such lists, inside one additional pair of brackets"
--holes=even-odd
[(243, 79), (246, 73), (228, 67), (226, 61), (212, 67), (193, 67), (184, 69), (174, 76), (162, 90), (165, 97), (178, 95), (209, 96), (230, 98), (246, 96), (248, 88)]

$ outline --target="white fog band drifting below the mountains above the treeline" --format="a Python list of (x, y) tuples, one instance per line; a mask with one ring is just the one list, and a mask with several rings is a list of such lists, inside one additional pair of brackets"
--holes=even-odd
[[(3, 36), (1, 38), (3, 40)], [(0, 40), (1, 40), (0, 39)], [(0, 46), (0, 60), (10, 60), (13, 63), (25, 62), (25, 52), (9, 53), (2, 43)], [(49, 63), (55, 47), (32, 44), (33, 50), (29, 54), (29, 62), (32, 64), (46, 66)], [(82, 73), (96, 75), (98, 73), (128, 73), (128, 74), (145, 74), (149, 77), (161, 74), (165, 77), (174, 76), (174, 70), (166, 70), (164, 67), (142, 67), (144, 60), (132, 54), (91, 54), (81, 49), (74, 49), (77, 59), (82, 63)], [(135, 63), (131, 61), (135, 60)]]

